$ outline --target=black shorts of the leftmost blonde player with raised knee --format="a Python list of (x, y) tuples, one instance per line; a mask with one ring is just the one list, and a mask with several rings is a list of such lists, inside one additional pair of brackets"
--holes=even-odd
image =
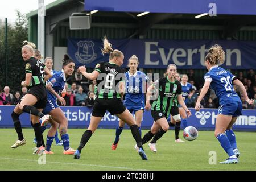
[(34, 104), (34, 106), (37, 109), (44, 109), (44, 107), (46, 107), (47, 93), (46, 87), (43, 84), (32, 86), (29, 90), (27, 90), (27, 92), (22, 96), (22, 98), (20, 98), (19, 104), (27, 93), (38, 98), (38, 102)]

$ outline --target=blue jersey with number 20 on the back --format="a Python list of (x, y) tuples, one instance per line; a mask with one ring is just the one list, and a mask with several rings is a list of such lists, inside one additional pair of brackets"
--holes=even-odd
[(217, 65), (210, 68), (209, 72), (205, 74), (204, 80), (211, 81), (210, 88), (215, 90), (215, 94), (220, 100), (220, 105), (241, 102), (233, 88), (232, 81), (234, 78), (235, 76), (232, 73)]

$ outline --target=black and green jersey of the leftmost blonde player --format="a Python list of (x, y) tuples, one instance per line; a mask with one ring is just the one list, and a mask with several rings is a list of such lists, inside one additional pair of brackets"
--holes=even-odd
[(31, 86), (38, 84), (44, 85), (45, 65), (41, 61), (35, 59), (35, 57), (30, 57), (25, 63), (26, 73), (32, 73), (30, 85), (28, 87), (31, 88)]

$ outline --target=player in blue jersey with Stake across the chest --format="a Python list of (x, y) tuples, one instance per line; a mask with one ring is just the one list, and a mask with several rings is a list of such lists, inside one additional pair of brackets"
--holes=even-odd
[[(125, 73), (126, 79), (126, 94), (123, 104), (130, 111), (135, 114), (135, 120), (138, 125), (139, 134), (141, 134), (141, 121), (143, 112), (145, 109), (145, 93), (146, 93), (146, 82), (149, 78), (145, 73), (137, 71), (139, 60), (136, 55), (130, 57), (128, 61), (129, 71)], [(123, 131), (125, 122), (119, 121), (117, 128), (115, 129), (115, 140), (111, 146), (112, 150), (117, 148), (119, 142), (119, 136)]]

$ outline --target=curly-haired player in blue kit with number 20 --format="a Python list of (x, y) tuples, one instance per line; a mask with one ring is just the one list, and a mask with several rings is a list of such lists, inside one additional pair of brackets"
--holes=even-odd
[(218, 64), (224, 63), (225, 52), (221, 46), (217, 44), (209, 49), (209, 53), (205, 57), (205, 66), (208, 71), (204, 76), (204, 86), (197, 98), (195, 109), (200, 110), (200, 101), (207, 93), (209, 87), (215, 90), (215, 93), (220, 100), (218, 115), (214, 135), (220, 142), (222, 148), (229, 155), (229, 158), (222, 164), (238, 163), (240, 152), (237, 149), (236, 136), (232, 131), (232, 126), (236, 119), (241, 115), (242, 102), (234, 91), (233, 84), (237, 85), (248, 104), (253, 104), (254, 100), (248, 98), (245, 86), (232, 73), (218, 67)]

